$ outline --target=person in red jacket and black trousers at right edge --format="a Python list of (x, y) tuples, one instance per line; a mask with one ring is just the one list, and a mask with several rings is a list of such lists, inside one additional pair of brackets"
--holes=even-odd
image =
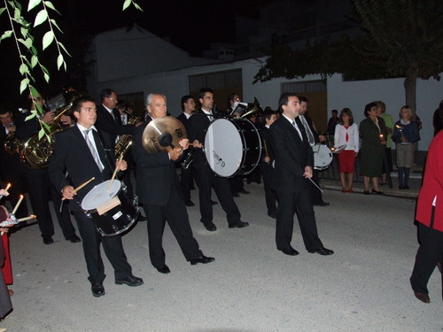
[[(443, 257), (443, 131), (432, 140), (426, 159), (424, 181), (418, 195), (416, 220), (420, 247), (410, 277), (412, 290), (424, 303), (430, 303), (427, 283)], [(443, 289), (443, 285), (442, 285)], [(443, 290), (442, 290), (443, 297)]]

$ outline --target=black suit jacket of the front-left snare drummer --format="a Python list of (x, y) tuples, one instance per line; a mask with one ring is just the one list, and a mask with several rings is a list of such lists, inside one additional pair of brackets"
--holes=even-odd
[(111, 157), (106, 155), (98, 133), (93, 130), (93, 135), (98, 156), (103, 166), (105, 166), (103, 172), (100, 173), (96, 161), (89, 151), (88, 144), (76, 125), (56, 135), (54, 154), (49, 166), (51, 181), (58, 192), (66, 185), (71, 185), (65, 177), (65, 171), (69, 174), (74, 188), (88, 181), (91, 177), (96, 178), (77, 192), (80, 201), (90, 189), (105, 180), (109, 180), (113, 174), (111, 165), (114, 165), (114, 160), (109, 160)]

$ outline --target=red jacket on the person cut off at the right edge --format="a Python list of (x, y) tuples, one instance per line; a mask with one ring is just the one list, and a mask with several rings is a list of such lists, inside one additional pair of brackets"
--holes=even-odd
[[(416, 220), (443, 232), (443, 131), (437, 134), (428, 149), (424, 181), (418, 194)], [(436, 199), (432, 220), (432, 203)]]

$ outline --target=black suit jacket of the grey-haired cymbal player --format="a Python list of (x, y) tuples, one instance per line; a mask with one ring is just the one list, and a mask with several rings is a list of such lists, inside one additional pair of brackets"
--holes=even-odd
[(142, 137), (144, 128), (151, 122), (148, 118), (136, 127), (132, 155), (136, 161), (136, 194), (138, 199), (149, 205), (167, 205), (173, 190), (183, 198), (180, 182), (175, 172), (175, 161), (169, 159), (167, 151), (148, 153), (144, 150)]

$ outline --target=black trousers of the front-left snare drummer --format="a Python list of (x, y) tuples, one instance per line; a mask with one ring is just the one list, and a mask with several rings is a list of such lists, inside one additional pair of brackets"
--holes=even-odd
[(102, 236), (98, 233), (92, 220), (84, 212), (75, 211), (75, 220), (82, 236), (83, 253), (86, 260), (86, 266), (89, 273), (89, 282), (91, 284), (102, 283), (105, 280), (105, 266), (100, 254), (100, 243), (107, 259), (111, 262), (114, 269), (115, 279), (124, 279), (132, 273), (132, 267), (128, 263), (121, 235)]

